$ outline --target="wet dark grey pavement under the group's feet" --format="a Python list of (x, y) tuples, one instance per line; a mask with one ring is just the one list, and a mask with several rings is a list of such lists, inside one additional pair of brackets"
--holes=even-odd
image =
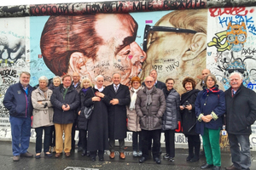
[[(35, 155), (35, 144), (31, 143), (28, 150)], [(162, 148), (163, 154), (161, 155), (161, 164), (157, 165), (153, 159), (149, 159), (144, 163), (138, 163), (139, 158), (132, 156), (131, 146), (127, 147), (125, 150), (126, 158), (125, 160), (120, 160), (119, 153), (116, 152), (116, 156), (113, 160), (109, 158), (109, 152), (105, 152), (105, 161), (90, 161), (90, 157), (81, 156), (81, 153), (77, 150), (71, 152), (71, 157), (66, 158), (62, 154), (61, 158), (53, 157), (44, 157), (44, 154), (41, 154), (40, 159), (35, 158), (20, 158), (20, 161), (13, 161), (11, 142), (0, 141), (0, 170), (93, 170), (93, 169), (104, 169), (104, 170), (122, 170), (122, 169), (138, 169), (138, 170), (199, 170), (201, 165), (206, 162), (205, 158), (202, 156), (200, 161), (197, 162), (188, 162), (186, 157), (188, 156), (187, 149), (177, 149), (175, 161), (170, 162), (163, 160), (163, 155), (165, 154), (165, 148)], [(223, 151), (221, 155), (222, 160), (222, 169), (231, 165), (230, 161), (230, 152)], [(256, 152), (252, 152), (253, 156), (256, 157)], [(255, 158), (256, 159), (256, 158)], [(256, 160), (253, 159), (251, 170), (256, 169)]]

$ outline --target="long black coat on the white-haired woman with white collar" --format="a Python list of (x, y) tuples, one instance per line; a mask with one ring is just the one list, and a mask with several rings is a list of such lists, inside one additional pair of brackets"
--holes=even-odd
[[(93, 90), (91, 90), (93, 89)], [(94, 110), (91, 113), (90, 119), (88, 120), (88, 140), (87, 140), (87, 150), (107, 150), (108, 149), (108, 108), (109, 99), (105, 94), (105, 90), (102, 94), (105, 97), (101, 101), (92, 101), (95, 93), (98, 90), (96, 88), (90, 88), (86, 94), (84, 103), (82, 104), (82, 110), (84, 111), (84, 106), (89, 107), (94, 105)]]

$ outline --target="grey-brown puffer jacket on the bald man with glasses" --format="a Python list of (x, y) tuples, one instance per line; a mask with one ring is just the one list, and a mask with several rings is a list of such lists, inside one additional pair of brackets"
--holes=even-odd
[(162, 90), (153, 87), (151, 93), (152, 104), (147, 109), (147, 88), (138, 91), (135, 109), (140, 116), (140, 125), (143, 130), (157, 130), (162, 128), (162, 116), (166, 111), (166, 99)]

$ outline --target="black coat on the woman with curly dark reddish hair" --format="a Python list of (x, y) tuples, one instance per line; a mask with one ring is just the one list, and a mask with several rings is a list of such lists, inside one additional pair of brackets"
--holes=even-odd
[(193, 90), (190, 90), (189, 92), (182, 94), (181, 96), (180, 105), (187, 105), (186, 104), (187, 101), (189, 102), (190, 105), (192, 105), (191, 111), (187, 109), (183, 109), (181, 111), (181, 122), (182, 122), (181, 124), (183, 127), (183, 133), (185, 135), (198, 135), (198, 133), (195, 132), (195, 122), (196, 122), (195, 99), (198, 93), (199, 93), (199, 90), (193, 89)]

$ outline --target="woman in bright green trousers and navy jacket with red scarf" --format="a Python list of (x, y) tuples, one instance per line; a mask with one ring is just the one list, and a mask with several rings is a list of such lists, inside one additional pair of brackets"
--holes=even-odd
[(224, 92), (218, 89), (216, 77), (207, 75), (205, 86), (195, 101), (195, 114), (197, 116), (196, 131), (201, 133), (207, 163), (202, 169), (212, 167), (220, 169), (221, 157), (219, 148), (219, 131), (223, 125), (222, 115), (225, 112)]

